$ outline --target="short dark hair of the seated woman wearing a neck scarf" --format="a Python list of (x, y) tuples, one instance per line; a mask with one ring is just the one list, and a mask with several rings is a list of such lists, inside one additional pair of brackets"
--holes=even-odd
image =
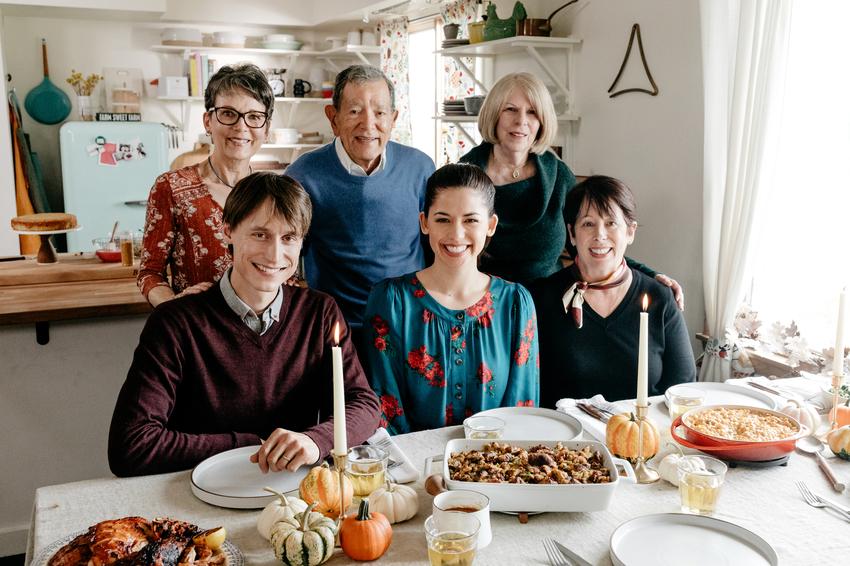
[(588, 177), (567, 193), (564, 202), (564, 220), (569, 226), (567, 235), (567, 251), (572, 257), (576, 256), (576, 247), (570, 241), (569, 236), (575, 238), (575, 225), (578, 215), (587, 207), (595, 206), (600, 214), (612, 215), (614, 207), (620, 208), (623, 218), (629, 225), (637, 222), (637, 205), (632, 191), (614, 177), (604, 175), (593, 175)]

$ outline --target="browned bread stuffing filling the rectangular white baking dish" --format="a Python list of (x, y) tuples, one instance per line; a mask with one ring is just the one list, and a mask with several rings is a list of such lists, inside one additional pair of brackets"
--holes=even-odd
[(497, 442), (481, 450), (452, 452), (449, 475), (455, 481), (487, 483), (571, 484), (610, 483), (602, 454), (585, 446), (582, 450), (545, 445), (518, 448)]

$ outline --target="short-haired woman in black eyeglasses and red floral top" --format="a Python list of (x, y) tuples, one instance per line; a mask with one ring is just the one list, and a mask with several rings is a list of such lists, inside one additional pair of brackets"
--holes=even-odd
[(274, 93), (255, 65), (225, 66), (210, 79), (204, 105), (209, 159), (160, 175), (148, 197), (138, 285), (152, 306), (205, 291), (230, 267), (224, 202), (252, 172), (251, 158), (271, 126)]

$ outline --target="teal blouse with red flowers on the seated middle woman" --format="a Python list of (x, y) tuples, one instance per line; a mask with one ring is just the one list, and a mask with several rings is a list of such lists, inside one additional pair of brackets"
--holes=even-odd
[(363, 334), (390, 434), (461, 424), (495, 407), (537, 406), (537, 317), (521, 285), (492, 277), (480, 301), (450, 310), (415, 273), (385, 279), (369, 295)]

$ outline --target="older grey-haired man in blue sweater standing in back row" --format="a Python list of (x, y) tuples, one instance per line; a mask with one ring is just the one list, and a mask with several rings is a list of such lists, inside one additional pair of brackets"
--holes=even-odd
[(313, 203), (307, 283), (333, 296), (353, 331), (363, 325), (378, 281), (425, 267), (419, 212), (434, 162), (389, 141), (398, 117), (395, 87), (375, 67), (339, 73), (325, 109), (336, 139), (287, 167)]

